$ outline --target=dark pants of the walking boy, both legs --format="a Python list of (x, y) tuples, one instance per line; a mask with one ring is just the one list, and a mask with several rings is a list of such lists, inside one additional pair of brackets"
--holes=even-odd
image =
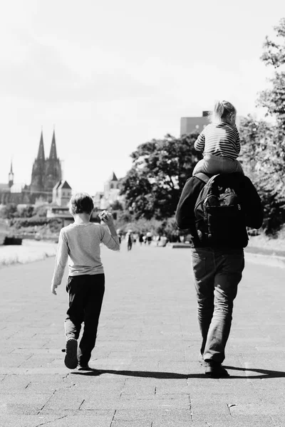
[(95, 347), (98, 321), (105, 291), (105, 275), (69, 276), (66, 285), (69, 308), (65, 320), (66, 339), (78, 339), (81, 324), (84, 330), (78, 346), (78, 363), (86, 366)]

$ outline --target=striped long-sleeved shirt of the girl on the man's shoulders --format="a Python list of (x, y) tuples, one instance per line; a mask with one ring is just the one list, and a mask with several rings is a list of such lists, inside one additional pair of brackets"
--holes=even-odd
[(210, 123), (197, 137), (194, 148), (204, 154), (229, 157), (235, 160), (239, 156), (240, 141), (237, 126), (228, 123)]

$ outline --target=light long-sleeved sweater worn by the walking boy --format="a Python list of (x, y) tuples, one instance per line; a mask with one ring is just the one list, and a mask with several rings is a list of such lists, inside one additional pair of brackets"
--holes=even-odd
[(67, 260), (68, 273), (71, 276), (104, 273), (100, 260), (101, 242), (113, 251), (120, 249), (118, 236), (111, 236), (106, 228), (98, 223), (72, 223), (61, 228), (52, 284), (61, 284)]

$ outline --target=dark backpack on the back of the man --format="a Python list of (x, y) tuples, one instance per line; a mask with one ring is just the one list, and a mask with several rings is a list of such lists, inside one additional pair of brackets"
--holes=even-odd
[(195, 175), (205, 185), (195, 204), (199, 240), (207, 246), (234, 246), (246, 233), (239, 196), (227, 184), (227, 174)]

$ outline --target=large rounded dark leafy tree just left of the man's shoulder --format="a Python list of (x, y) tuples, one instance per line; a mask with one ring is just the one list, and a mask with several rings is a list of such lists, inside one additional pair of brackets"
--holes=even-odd
[(194, 149), (196, 139), (197, 134), (180, 138), (166, 135), (140, 144), (130, 154), (133, 167), (121, 182), (121, 194), (125, 195), (126, 209), (136, 219), (162, 219), (175, 214), (182, 188), (202, 158), (202, 153)]

